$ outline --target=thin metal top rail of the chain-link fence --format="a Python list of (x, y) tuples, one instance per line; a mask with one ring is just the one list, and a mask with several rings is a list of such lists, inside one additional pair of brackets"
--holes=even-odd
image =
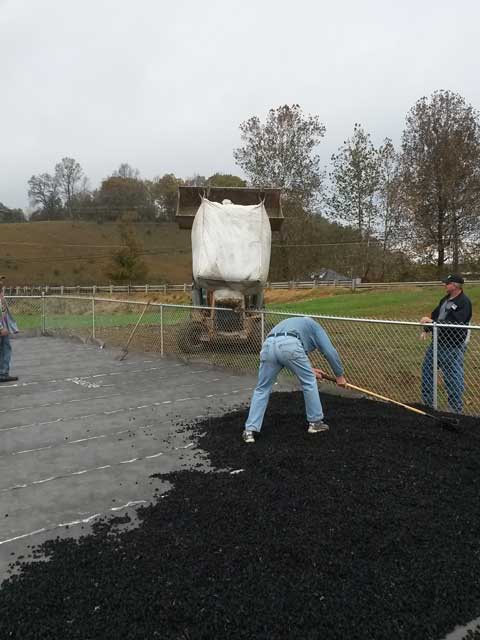
[[(128, 305), (137, 305), (137, 306), (145, 306), (148, 301), (145, 300), (119, 300), (117, 298), (98, 298), (98, 297), (85, 297), (85, 296), (6, 296), (8, 299), (18, 300), (81, 300), (85, 302), (95, 301), (95, 302), (106, 302), (106, 303), (115, 303), (115, 304), (128, 304)], [(229, 307), (207, 307), (207, 306), (195, 306), (191, 304), (170, 304), (164, 302), (149, 302), (149, 306), (151, 307), (166, 307), (169, 309), (193, 309), (198, 311), (212, 311), (216, 309), (217, 311), (232, 311)], [(246, 310), (247, 312), (249, 309)], [(474, 331), (480, 330), (480, 325), (469, 324), (442, 324), (438, 322), (432, 322), (431, 324), (422, 324), (420, 321), (412, 321), (412, 320), (385, 320), (383, 318), (357, 318), (352, 316), (333, 316), (333, 315), (325, 315), (325, 314), (313, 314), (313, 313), (292, 313), (287, 311), (271, 311), (269, 309), (256, 309), (251, 310), (252, 312), (258, 314), (268, 314), (280, 317), (309, 317), (315, 318), (317, 320), (340, 320), (341, 322), (360, 322), (366, 324), (394, 324), (394, 325), (403, 325), (403, 326), (411, 326), (411, 327), (437, 327), (437, 328), (445, 328), (445, 329), (473, 329)]]

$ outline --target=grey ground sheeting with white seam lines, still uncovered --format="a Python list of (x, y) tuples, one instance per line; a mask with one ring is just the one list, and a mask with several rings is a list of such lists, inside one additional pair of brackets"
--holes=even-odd
[(117, 352), (55, 338), (13, 348), (20, 380), (0, 385), (0, 580), (29, 545), (168, 490), (150, 475), (202, 457), (179, 422), (238, 406), (255, 384), (152, 354), (118, 362)]

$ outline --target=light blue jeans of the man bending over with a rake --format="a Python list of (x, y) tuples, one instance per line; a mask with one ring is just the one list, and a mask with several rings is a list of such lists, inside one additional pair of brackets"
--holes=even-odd
[(245, 429), (260, 431), (273, 383), (280, 370), (286, 367), (300, 380), (305, 399), (307, 420), (318, 422), (323, 419), (322, 403), (318, 393), (317, 379), (310, 360), (298, 338), (281, 336), (267, 338), (260, 352), (258, 383), (253, 392), (252, 404)]

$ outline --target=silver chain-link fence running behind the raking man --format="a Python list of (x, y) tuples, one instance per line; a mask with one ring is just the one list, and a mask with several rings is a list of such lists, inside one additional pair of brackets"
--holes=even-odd
[[(66, 296), (14, 296), (9, 306), (22, 331), (75, 336), (130, 350), (154, 351), (254, 372), (261, 344), (288, 316), (273, 311), (213, 309)], [(480, 326), (312, 316), (327, 331), (347, 380), (409, 403), (480, 415)], [(328, 369), (318, 352), (312, 363)]]

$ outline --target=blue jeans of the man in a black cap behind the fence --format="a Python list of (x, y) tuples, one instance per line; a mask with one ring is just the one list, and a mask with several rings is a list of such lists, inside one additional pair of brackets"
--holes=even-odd
[[(463, 392), (463, 359), (466, 345), (447, 346), (439, 343), (437, 351), (438, 368), (443, 373), (448, 404), (455, 413), (462, 413)], [(422, 367), (422, 398), (423, 402), (433, 405), (433, 344), (429, 345)]]

